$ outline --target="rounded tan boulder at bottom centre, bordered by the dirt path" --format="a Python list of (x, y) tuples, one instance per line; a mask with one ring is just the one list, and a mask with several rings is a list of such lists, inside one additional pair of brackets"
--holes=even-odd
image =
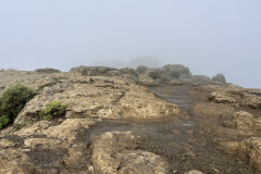
[(139, 139), (130, 132), (108, 132), (97, 137), (92, 152), (95, 173), (167, 173), (167, 162), (162, 157), (138, 149)]

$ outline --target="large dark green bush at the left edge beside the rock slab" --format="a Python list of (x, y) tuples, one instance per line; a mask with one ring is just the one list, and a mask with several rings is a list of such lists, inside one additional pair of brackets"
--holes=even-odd
[(21, 84), (4, 89), (0, 96), (0, 115), (8, 115), (13, 121), (35, 95), (34, 90)]

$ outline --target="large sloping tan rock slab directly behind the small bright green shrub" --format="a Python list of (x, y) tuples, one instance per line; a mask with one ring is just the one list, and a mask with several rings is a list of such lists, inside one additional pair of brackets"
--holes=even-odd
[(25, 105), (14, 121), (15, 124), (35, 122), (39, 111), (51, 101), (67, 104), (66, 117), (142, 120), (179, 112), (175, 104), (160, 100), (148, 89), (125, 80), (62, 73), (54, 77)]

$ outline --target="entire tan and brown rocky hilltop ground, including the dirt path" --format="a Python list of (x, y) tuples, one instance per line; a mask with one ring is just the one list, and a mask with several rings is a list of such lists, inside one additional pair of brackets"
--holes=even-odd
[[(171, 67), (187, 75), (1, 71), (0, 91), (21, 83), (37, 95), (0, 130), (0, 173), (261, 173), (261, 90), (192, 76), (184, 66), (163, 74)], [(50, 101), (67, 104), (66, 114), (40, 121)]]

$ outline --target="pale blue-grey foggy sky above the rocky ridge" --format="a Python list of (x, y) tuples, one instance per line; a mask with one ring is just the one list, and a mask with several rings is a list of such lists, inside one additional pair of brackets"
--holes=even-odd
[(139, 58), (261, 88), (261, 1), (0, 1), (0, 69), (125, 66)]

